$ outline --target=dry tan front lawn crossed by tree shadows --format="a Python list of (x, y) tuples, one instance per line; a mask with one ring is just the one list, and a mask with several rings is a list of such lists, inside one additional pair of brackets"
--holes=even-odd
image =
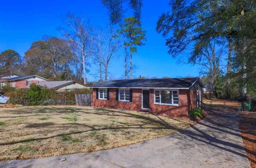
[(0, 115), (0, 160), (122, 147), (195, 124), (137, 111), (82, 106), (0, 108)]

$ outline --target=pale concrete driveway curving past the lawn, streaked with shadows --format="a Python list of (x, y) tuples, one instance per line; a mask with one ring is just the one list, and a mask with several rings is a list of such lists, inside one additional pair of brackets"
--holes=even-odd
[(0, 162), (0, 168), (250, 168), (236, 115), (210, 112), (197, 125), (135, 145)]

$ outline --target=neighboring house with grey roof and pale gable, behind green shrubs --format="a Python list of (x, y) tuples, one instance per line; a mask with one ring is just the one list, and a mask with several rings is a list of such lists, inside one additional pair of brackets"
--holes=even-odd
[(78, 82), (76, 80), (51, 81), (40, 83), (38, 85), (46, 86), (49, 89), (55, 89), (62, 92), (68, 92), (72, 89), (83, 89), (88, 87), (88, 85)]

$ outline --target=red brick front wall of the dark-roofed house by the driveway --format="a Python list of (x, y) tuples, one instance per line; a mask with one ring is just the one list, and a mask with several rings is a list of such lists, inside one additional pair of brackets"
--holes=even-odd
[[(132, 89), (132, 102), (116, 101), (116, 89), (109, 89), (109, 100), (97, 100), (96, 88), (93, 88), (92, 106), (137, 111), (142, 109), (142, 90)], [(179, 105), (154, 104), (154, 89), (150, 89), (150, 112), (154, 115), (188, 119), (188, 112), (196, 106), (196, 91), (179, 90)]]

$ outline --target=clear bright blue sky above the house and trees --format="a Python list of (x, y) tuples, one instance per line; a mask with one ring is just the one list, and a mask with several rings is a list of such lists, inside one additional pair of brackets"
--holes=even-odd
[[(63, 19), (70, 12), (85, 16), (94, 25), (105, 26), (108, 21), (107, 10), (101, 0), (4, 0), (1, 2), (0, 15), (0, 52), (13, 49), (22, 57), (34, 41), (43, 35), (60, 37), (59, 27), (65, 27)], [(178, 58), (168, 55), (165, 39), (156, 33), (156, 21), (160, 14), (170, 10), (168, 0), (156, 2), (144, 0), (142, 8), (142, 28), (146, 30), (144, 46), (138, 47), (138, 53), (133, 54), (132, 63), (138, 68), (133, 77), (148, 78), (169, 76), (172, 78), (186, 76), (202, 76), (199, 66), (178, 64)], [(129, 17), (129, 16), (127, 16)], [(124, 73), (123, 57), (112, 61), (108, 72), (113, 79), (119, 79)], [(93, 74), (96, 67), (91, 66), (86, 74), (88, 81), (96, 81)]]

